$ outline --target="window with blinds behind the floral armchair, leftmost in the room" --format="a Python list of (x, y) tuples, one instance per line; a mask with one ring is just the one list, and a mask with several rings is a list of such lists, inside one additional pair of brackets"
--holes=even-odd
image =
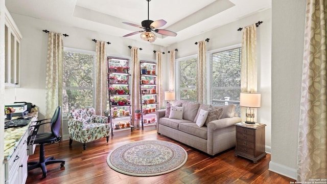
[(62, 112), (94, 107), (96, 54), (64, 48)]

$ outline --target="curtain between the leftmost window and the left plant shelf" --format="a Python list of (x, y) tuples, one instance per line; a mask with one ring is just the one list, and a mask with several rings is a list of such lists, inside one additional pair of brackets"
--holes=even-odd
[(97, 41), (96, 45), (96, 85), (95, 101), (96, 114), (102, 116), (102, 112), (107, 110), (107, 50), (105, 41)]

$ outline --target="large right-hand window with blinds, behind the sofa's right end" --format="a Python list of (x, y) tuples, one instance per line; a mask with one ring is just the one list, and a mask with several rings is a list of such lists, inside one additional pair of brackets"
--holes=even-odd
[(241, 47), (237, 46), (209, 53), (213, 105), (240, 104)]

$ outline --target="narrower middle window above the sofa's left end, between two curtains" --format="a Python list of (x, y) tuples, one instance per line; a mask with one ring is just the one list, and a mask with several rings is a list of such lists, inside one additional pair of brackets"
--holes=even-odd
[(196, 101), (197, 57), (176, 61), (176, 99)]

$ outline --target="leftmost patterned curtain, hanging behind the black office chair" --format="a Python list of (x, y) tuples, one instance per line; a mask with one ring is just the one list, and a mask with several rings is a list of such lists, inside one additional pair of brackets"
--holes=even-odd
[[(52, 118), (57, 106), (62, 106), (63, 36), (49, 32), (45, 78), (45, 119)], [(44, 132), (51, 131), (45, 124)]]

